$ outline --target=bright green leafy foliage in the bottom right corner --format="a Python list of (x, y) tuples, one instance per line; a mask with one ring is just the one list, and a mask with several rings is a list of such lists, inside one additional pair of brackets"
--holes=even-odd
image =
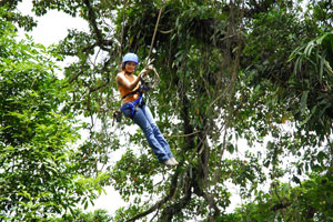
[(278, 181), (268, 193), (261, 191), (255, 202), (229, 215), (231, 221), (331, 221), (332, 175), (310, 175), (310, 180), (292, 188)]

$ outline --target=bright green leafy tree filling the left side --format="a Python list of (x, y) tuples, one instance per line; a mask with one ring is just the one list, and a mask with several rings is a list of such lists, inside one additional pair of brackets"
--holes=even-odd
[(72, 161), (71, 145), (80, 138), (80, 128), (71, 113), (59, 111), (68, 95), (52, 61), (61, 57), (31, 38), (17, 42), (16, 27), (4, 18), (0, 20), (0, 219), (46, 221), (94, 199), (105, 175), (84, 179)]

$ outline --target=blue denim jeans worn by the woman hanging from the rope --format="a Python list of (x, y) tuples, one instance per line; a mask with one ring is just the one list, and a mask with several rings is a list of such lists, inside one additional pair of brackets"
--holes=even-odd
[[(125, 109), (123, 114), (131, 117), (131, 109)], [(149, 145), (160, 162), (164, 162), (173, 157), (168, 142), (154, 122), (150, 109), (145, 104), (137, 107), (132, 120), (142, 129)]]

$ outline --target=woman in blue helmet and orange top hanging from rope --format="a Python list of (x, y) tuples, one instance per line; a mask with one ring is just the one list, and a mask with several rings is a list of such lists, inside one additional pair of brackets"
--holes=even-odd
[(121, 72), (117, 74), (115, 80), (122, 98), (121, 111), (142, 129), (159, 162), (169, 167), (178, 165), (169, 143), (154, 122), (151, 111), (142, 98), (144, 89), (140, 84), (140, 80), (147, 74), (148, 70), (143, 69), (137, 77), (133, 73), (138, 63), (139, 58), (137, 54), (127, 53), (122, 59)]

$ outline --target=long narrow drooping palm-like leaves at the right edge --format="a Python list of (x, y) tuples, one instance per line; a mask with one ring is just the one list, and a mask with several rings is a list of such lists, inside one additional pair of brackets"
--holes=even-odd
[(303, 119), (306, 131), (313, 130), (317, 135), (324, 135), (332, 127), (332, 58), (333, 32), (323, 33), (296, 48), (290, 58), (295, 60), (290, 82), (301, 94), (297, 115)]

